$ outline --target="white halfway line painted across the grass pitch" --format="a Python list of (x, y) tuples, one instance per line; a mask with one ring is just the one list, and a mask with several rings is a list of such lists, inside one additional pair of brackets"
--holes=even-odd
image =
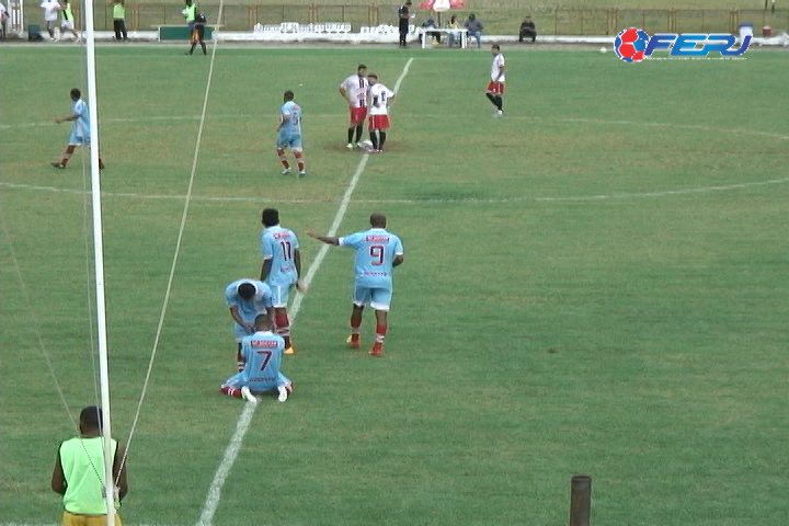
[[(402, 80), (405, 78), (409, 68), (411, 67), (411, 62), (413, 62), (413, 58), (409, 58), (408, 62), (405, 62), (405, 67), (403, 67), (402, 73), (400, 73), (400, 78), (398, 78), (397, 83), (395, 84), (396, 92), (400, 88)], [(362, 156), (358, 167), (356, 167), (356, 172), (354, 172), (353, 178), (351, 178), (351, 183), (348, 184), (347, 190), (345, 190), (342, 201), (340, 202), (340, 208), (334, 215), (334, 221), (329, 229), (328, 236), (333, 237), (336, 235), (340, 224), (345, 217), (345, 213), (351, 204), (351, 195), (353, 195), (354, 190), (356, 190), (356, 185), (358, 184), (359, 179), (362, 179), (362, 174), (364, 173), (364, 169), (367, 165), (368, 160), (369, 153), (365, 152), (365, 155)], [(325, 258), (327, 252), (329, 252), (329, 248), (330, 247), (328, 244), (323, 244), (320, 248), (318, 255), (307, 271), (305, 285), (308, 287), (310, 283), (312, 283), (312, 278), (318, 272), (318, 268), (320, 268), (321, 263), (323, 263), (323, 259)], [(293, 305), (290, 306), (290, 324), (294, 324), (296, 321), (296, 317), (301, 308), (302, 298), (304, 296), (301, 294), (297, 294)], [(214, 476), (210, 488), (208, 489), (208, 496), (206, 498), (205, 505), (203, 506), (203, 513), (201, 513), (199, 521), (197, 521), (197, 526), (210, 526), (211, 521), (214, 519), (214, 514), (216, 513), (217, 507), (219, 506), (219, 501), (221, 500), (221, 489), (225, 485), (225, 480), (228, 474), (230, 474), (233, 464), (236, 464), (236, 458), (238, 457), (238, 454), (241, 450), (241, 445), (243, 444), (243, 437), (249, 430), (252, 416), (254, 415), (254, 411), (258, 405), (259, 404), (254, 403), (244, 404), (244, 410), (241, 412), (241, 416), (236, 425), (236, 433), (230, 439), (230, 445), (225, 450), (225, 457), (222, 458), (222, 461)]]

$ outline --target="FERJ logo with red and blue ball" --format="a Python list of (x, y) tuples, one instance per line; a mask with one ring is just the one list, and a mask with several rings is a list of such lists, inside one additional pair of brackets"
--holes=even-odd
[[(710, 53), (720, 53), (721, 58), (739, 57), (751, 45), (751, 36), (743, 38), (740, 47), (734, 48), (736, 37), (721, 34), (682, 34), (655, 33), (649, 36), (645, 31), (629, 27), (620, 32), (614, 41), (614, 50), (626, 62), (640, 62), (652, 56), (658, 49), (668, 49), (668, 58), (707, 58)], [(701, 45), (701, 47), (698, 47)]]

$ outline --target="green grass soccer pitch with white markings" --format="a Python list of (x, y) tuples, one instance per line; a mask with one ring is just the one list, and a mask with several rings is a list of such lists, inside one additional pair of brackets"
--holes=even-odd
[[(184, 49), (96, 50), (124, 442), (206, 96), (211, 57)], [(351, 253), (329, 250), (283, 369), (296, 392), (259, 404), (211, 524), (561, 525), (575, 473), (593, 477), (595, 525), (789, 516), (787, 55), (503, 52), (506, 116), (491, 118), (484, 49), (217, 50), (125, 524), (191, 526), (213, 505), (244, 411), (217, 392), (235, 367), (224, 289), (260, 273), (264, 206), (300, 236), (307, 267), (321, 245), (305, 231), (340, 211), (341, 235), (387, 214), (405, 263), (375, 359), (369, 311), (363, 350), (345, 347)], [(59, 522), (49, 476), (73, 426), (46, 361), (72, 418), (95, 401), (87, 152), (49, 167), (83, 59), (3, 53), (0, 525)], [(401, 79), (388, 150), (367, 159), (345, 149), (336, 91), (359, 62), (390, 88)], [(273, 149), (287, 89), (304, 108), (304, 180), (279, 175)]]

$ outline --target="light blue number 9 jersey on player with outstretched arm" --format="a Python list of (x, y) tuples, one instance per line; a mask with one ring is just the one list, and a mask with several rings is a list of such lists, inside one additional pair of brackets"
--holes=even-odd
[(341, 247), (356, 250), (354, 274), (357, 286), (391, 290), (392, 263), (403, 253), (400, 238), (382, 228), (340, 238)]

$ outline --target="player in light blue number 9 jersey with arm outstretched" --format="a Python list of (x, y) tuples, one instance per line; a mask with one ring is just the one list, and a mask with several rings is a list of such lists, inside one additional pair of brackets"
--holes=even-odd
[(370, 227), (369, 230), (352, 233), (344, 238), (318, 236), (312, 230), (307, 233), (327, 244), (351, 247), (356, 251), (351, 336), (347, 342), (352, 348), (361, 346), (362, 315), (365, 304), (369, 302), (376, 313), (376, 340), (369, 354), (382, 356), (384, 339), (387, 333), (387, 313), (392, 295), (392, 268), (402, 264), (403, 247), (400, 238), (386, 229), (384, 214), (373, 214)]

